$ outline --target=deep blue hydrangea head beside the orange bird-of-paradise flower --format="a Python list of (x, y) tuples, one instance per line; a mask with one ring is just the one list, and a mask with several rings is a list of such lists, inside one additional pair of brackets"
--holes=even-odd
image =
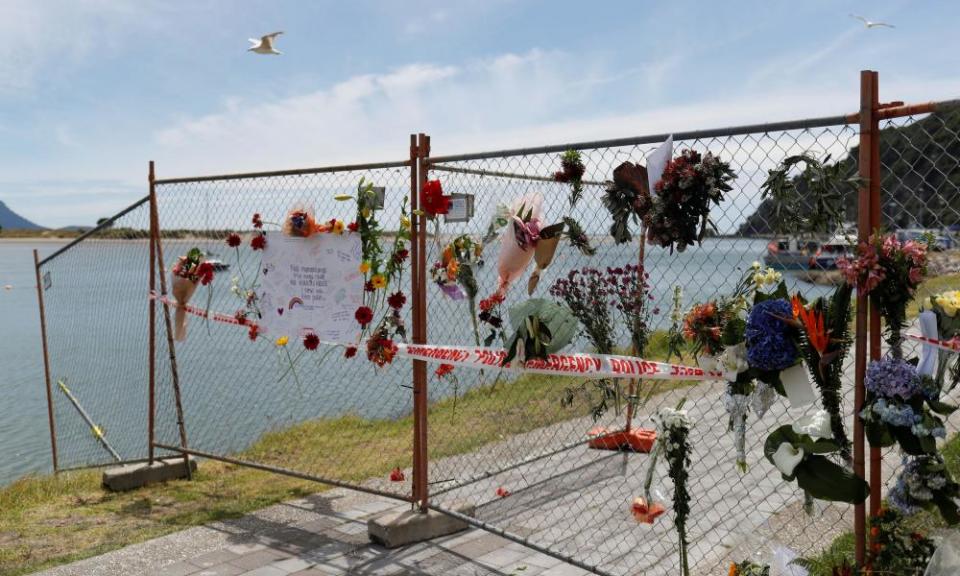
[(797, 347), (783, 319), (793, 307), (783, 298), (755, 305), (747, 318), (747, 361), (760, 370), (785, 370), (797, 362)]

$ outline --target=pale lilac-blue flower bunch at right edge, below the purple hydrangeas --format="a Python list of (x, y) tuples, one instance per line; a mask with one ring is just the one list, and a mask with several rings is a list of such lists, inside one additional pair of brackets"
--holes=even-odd
[(939, 454), (914, 456), (904, 458), (903, 463), (897, 484), (887, 494), (890, 506), (907, 515), (936, 507), (948, 524), (960, 522), (957, 509), (960, 485), (950, 476), (943, 457)]

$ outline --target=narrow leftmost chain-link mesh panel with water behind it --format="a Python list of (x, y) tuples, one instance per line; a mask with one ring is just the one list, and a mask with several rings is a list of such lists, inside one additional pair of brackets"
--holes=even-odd
[(121, 459), (147, 456), (149, 203), (128, 210), (40, 265), (62, 469), (115, 461), (81, 409)]

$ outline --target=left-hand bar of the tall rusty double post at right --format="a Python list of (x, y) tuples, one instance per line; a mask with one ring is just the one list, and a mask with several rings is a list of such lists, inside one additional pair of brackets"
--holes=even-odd
[[(860, 177), (864, 182), (870, 178), (870, 162), (873, 155), (870, 147), (873, 145), (875, 132), (873, 129), (873, 74), (869, 70), (860, 72)], [(860, 241), (870, 238), (870, 186), (863, 184), (857, 196), (857, 234)], [(853, 471), (860, 478), (864, 474), (864, 430), (863, 422), (857, 416), (863, 408), (866, 395), (863, 379), (867, 370), (867, 298), (857, 293), (857, 316), (854, 356), (854, 400), (853, 400)], [(855, 555), (858, 566), (863, 566), (866, 560), (867, 524), (863, 503), (854, 506), (854, 535)]]

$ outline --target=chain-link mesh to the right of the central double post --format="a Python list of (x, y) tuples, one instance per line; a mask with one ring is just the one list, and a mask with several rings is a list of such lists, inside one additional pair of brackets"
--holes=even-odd
[[(912, 138), (909, 153), (888, 152), (884, 160), (884, 193), (892, 198), (885, 206), (886, 224), (891, 228), (909, 225), (944, 228), (956, 223), (960, 196), (957, 180), (956, 134), (943, 115), (924, 121), (904, 119), (891, 126), (907, 126), (906, 132), (885, 135), (883, 144), (893, 138)], [(956, 124), (953, 124), (956, 126)], [(939, 142), (938, 142), (939, 140)], [(649, 141), (649, 140), (648, 140)], [(734, 190), (715, 207), (711, 218), (719, 237), (709, 238), (700, 247), (671, 254), (659, 247), (646, 247), (645, 266), (650, 274), (651, 305), (659, 312), (652, 317), (651, 329), (663, 332), (670, 326), (671, 299), (675, 286), (683, 290), (684, 310), (696, 302), (705, 302), (732, 292), (741, 274), (754, 261), (763, 261), (767, 253), (769, 212), (757, 210), (761, 203), (760, 185), (767, 171), (785, 157), (808, 153), (820, 160), (843, 163), (848, 176), (857, 173), (859, 130), (845, 124), (759, 130), (733, 135), (680, 138), (678, 148), (712, 152), (730, 162), (737, 173)], [(543, 273), (534, 296), (549, 296), (549, 287), (570, 270), (587, 267), (604, 270), (636, 263), (636, 239), (615, 245), (608, 233), (610, 216), (601, 203), (602, 183), (611, 179), (614, 168), (623, 161), (645, 163), (656, 144), (611, 147), (578, 147), (586, 166), (583, 199), (576, 208), (568, 203), (570, 185), (553, 181), (561, 169), (562, 150), (532, 153), (483, 154), (475, 158), (458, 156), (450, 161), (434, 160), (432, 178), (440, 178), (444, 189), (475, 196), (477, 214), (469, 224), (444, 226), (442, 236), (431, 244), (428, 262), (439, 258), (438, 251), (460, 234), (482, 237), (497, 204), (509, 204), (524, 193), (539, 192), (544, 198), (543, 221), (558, 222), (572, 215), (583, 225), (596, 245), (594, 256), (585, 256), (570, 245), (562, 245), (550, 267)], [(436, 147), (436, 146), (435, 146)], [(893, 148), (893, 146), (890, 146)], [(906, 156), (904, 158), (903, 156)], [(902, 174), (892, 166), (907, 163)], [(932, 195), (924, 206), (950, 207), (952, 214), (932, 208), (917, 212), (914, 203), (918, 182), (930, 183), (925, 173), (937, 170), (942, 176), (933, 181)], [(902, 175), (901, 175), (902, 174)], [(897, 189), (892, 190), (894, 186)], [(856, 221), (855, 198), (850, 198), (847, 219)], [(747, 218), (750, 214), (754, 216)], [(911, 214), (922, 214), (911, 224)], [(758, 233), (756, 237), (752, 233)], [(481, 295), (496, 288), (495, 263), (498, 242), (484, 251), (487, 263), (481, 270)], [(806, 260), (806, 258), (804, 258)], [(806, 264), (807, 262), (803, 262)], [(789, 266), (789, 262), (781, 262)], [(827, 294), (832, 286), (811, 284), (819, 276), (828, 279), (836, 272), (818, 270), (785, 273), (791, 293), (799, 290), (813, 298)], [(937, 273), (943, 273), (938, 271)], [(505, 307), (526, 298), (525, 280), (517, 282)], [(469, 344), (467, 305), (440, 297), (434, 288), (430, 294), (429, 340)], [(443, 318), (437, 322), (434, 318)], [(460, 321), (449, 321), (460, 318)], [(629, 348), (623, 323), (618, 334), (621, 349)], [(660, 346), (658, 347), (658, 343)], [(588, 344), (581, 339), (577, 348)], [(650, 355), (663, 353), (662, 338), (654, 337)], [(688, 363), (692, 359), (686, 358)], [(844, 386), (846, 414), (853, 408), (853, 352), (846, 361)], [(587, 566), (616, 574), (676, 574), (679, 572), (676, 535), (669, 521), (653, 526), (638, 526), (630, 514), (633, 498), (643, 495), (646, 454), (611, 453), (587, 447), (587, 432), (597, 425), (608, 430), (624, 425), (624, 410), (609, 410), (599, 420), (591, 416), (590, 403), (582, 397), (573, 406), (563, 407), (567, 390), (579, 384), (571, 379), (521, 377), (508, 379), (496, 374), (461, 373), (456, 381), (449, 376), (431, 380), (434, 398), (449, 398), (467, 392), (459, 402), (458, 413), (449, 401), (431, 406), (430, 454), (431, 481), (437, 483), (433, 502), (452, 508), (460, 501), (477, 505), (478, 518), (506, 530), (521, 541), (534, 543), (561, 555), (575, 558)], [(644, 396), (653, 382), (640, 386)], [(671, 389), (674, 388), (674, 389)], [(589, 389), (589, 387), (588, 387)], [(783, 482), (763, 457), (766, 435), (777, 425), (804, 414), (791, 410), (781, 400), (763, 418), (751, 415), (747, 430), (749, 470), (740, 474), (735, 467), (732, 433), (724, 406), (722, 383), (700, 383), (674, 387), (662, 385), (659, 393), (638, 410), (637, 426), (652, 427), (651, 416), (662, 406), (674, 406), (687, 398), (695, 425), (692, 431), (693, 455), (690, 472), (692, 493), (691, 542), (692, 569), (697, 574), (725, 573), (731, 560), (751, 557), (757, 549), (781, 544), (798, 555), (822, 550), (844, 531), (852, 529), (852, 506), (819, 506), (813, 516), (802, 510), (803, 495), (793, 484)], [(811, 413), (815, 407), (808, 408)], [(853, 420), (848, 419), (848, 430)], [(452, 446), (483, 444), (467, 454), (447, 456)], [(887, 468), (898, 458), (888, 458)], [(672, 485), (660, 467), (654, 482), (667, 496)], [(501, 495), (509, 493), (503, 498)]]

